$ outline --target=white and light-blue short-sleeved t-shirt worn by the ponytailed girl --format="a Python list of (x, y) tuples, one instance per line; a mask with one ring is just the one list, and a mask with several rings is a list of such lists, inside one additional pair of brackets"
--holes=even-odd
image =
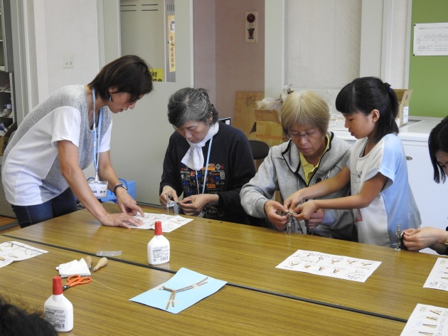
[(405, 150), (395, 134), (385, 135), (362, 156), (367, 138), (357, 140), (347, 164), (351, 172), (351, 194), (359, 194), (364, 182), (380, 173), (387, 177), (383, 191), (369, 206), (353, 209), (358, 241), (378, 246), (396, 245), (397, 226), (401, 230), (420, 227), (420, 211), (407, 179)]

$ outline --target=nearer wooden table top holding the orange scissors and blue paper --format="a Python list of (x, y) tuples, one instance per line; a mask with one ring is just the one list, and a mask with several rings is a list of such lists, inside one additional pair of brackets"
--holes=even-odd
[[(0, 268), (1, 295), (43, 310), (55, 266), (85, 254), (0, 236), (48, 251)], [(94, 261), (97, 257), (94, 257)], [(109, 261), (92, 282), (65, 290), (75, 323), (63, 335), (399, 335), (404, 323), (225, 285), (178, 314), (129, 301), (173, 274)], [(65, 283), (65, 279), (63, 279)]]

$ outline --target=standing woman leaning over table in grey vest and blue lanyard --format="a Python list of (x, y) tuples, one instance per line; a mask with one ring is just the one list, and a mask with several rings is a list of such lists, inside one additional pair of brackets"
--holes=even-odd
[[(140, 225), (143, 214), (110, 162), (112, 113), (134, 108), (153, 89), (149, 65), (122, 56), (87, 85), (55, 91), (26, 115), (6, 147), (1, 180), (18, 224), (26, 227), (76, 211), (75, 196), (105, 226)], [(94, 160), (95, 181), (117, 195), (120, 214), (109, 214), (82, 169)], [(97, 180), (99, 177), (99, 180)]]

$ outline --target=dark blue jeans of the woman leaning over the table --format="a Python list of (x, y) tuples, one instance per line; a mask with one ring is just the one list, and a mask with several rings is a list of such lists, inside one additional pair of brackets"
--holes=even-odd
[(12, 209), (17, 216), (18, 224), (21, 228), (41, 223), (58, 216), (70, 214), (78, 210), (76, 199), (73, 191), (68, 188), (59, 196), (43, 204), (31, 206), (13, 205)]

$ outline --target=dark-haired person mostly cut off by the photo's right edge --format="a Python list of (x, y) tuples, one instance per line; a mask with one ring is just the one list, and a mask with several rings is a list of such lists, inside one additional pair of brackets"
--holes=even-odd
[[(448, 117), (444, 117), (432, 129), (428, 147), (434, 169), (434, 182), (444, 183), (448, 174)], [(448, 254), (448, 228), (447, 231), (427, 226), (407, 229), (403, 231), (403, 243), (411, 251), (429, 247), (439, 254)]]

